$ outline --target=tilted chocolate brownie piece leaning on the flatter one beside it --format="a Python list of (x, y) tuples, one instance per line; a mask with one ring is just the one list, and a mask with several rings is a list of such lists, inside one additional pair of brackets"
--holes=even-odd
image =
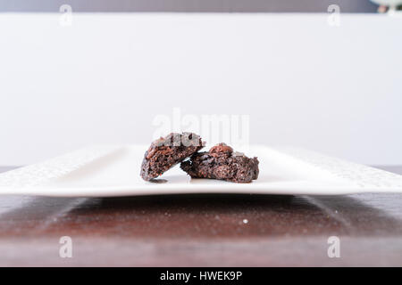
[(151, 143), (141, 165), (141, 177), (151, 180), (204, 147), (199, 135), (172, 133)]

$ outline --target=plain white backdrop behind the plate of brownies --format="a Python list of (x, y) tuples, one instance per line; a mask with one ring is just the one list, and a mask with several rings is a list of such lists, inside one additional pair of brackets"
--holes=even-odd
[(0, 14), (0, 165), (248, 114), (250, 142), (402, 164), (402, 17)]

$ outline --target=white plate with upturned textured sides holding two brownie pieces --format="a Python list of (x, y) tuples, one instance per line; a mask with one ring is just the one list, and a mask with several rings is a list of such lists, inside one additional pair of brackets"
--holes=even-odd
[(266, 146), (250, 146), (246, 152), (260, 161), (260, 175), (253, 183), (191, 179), (179, 166), (163, 174), (159, 183), (145, 182), (139, 170), (147, 147), (94, 146), (5, 172), (0, 174), (0, 194), (105, 197), (174, 193), (402, 193), (401, 175), (313, 151)]

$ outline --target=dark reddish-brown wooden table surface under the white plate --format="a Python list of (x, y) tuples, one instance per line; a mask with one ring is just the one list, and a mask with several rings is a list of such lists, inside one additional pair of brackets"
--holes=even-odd
[(402, 266), (402, 194), (0, 196), (0, 265)]

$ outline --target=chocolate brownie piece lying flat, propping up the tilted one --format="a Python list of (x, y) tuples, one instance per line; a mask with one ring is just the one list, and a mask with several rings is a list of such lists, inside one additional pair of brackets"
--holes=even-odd
[(250, 183), (258, 178), (258, 159), (249, 159), (225, 143), (207, 152), (194, 153), (180, 168), (193, 178), (213, 178), (236, 183)]

